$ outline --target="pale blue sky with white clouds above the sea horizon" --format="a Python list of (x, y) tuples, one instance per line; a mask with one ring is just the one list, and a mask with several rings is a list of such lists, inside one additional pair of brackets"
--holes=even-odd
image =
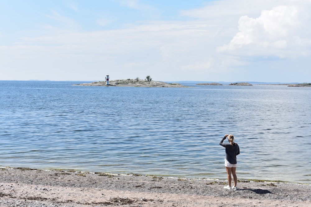
[(0, 80), (311, 82), (311, 0), (0, 0)]

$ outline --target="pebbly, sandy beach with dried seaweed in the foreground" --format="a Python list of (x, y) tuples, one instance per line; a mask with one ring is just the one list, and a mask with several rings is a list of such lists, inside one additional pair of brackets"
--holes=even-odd
[(0, 206), (311, 206), (311, 185), (162, 178), (28, 168), (0, 170)]

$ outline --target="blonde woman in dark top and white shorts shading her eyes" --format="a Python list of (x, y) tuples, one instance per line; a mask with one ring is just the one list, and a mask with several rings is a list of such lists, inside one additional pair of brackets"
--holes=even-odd
[[(224, 144), (224, 140), (228, 137), (228, 142), (229, 144)], [(226, 171), (227, 171), (227, 176), (228, 176), (228, 186), (224, 187), (225, 189), (233, 189), (233, 190), (237, 190), (238, 187), (236, 186), (238, 179), (236, 177), (235, 174), (235, 170), (236, 170), (236, 155), (240, 154), (240, 148), (239, 145), (237, 143), (234, 142), (234, 137), (232, 134), (228, 135), (226, 134), (221, 141), (219, 142), (219, 144), (223, 147), (226, 148), (226, 158), (225, 158), (225, 167), (226, 167)], [(233, 182), (234, 182), (234, 187), (231, 188), (231, 173), (233, 176)]]

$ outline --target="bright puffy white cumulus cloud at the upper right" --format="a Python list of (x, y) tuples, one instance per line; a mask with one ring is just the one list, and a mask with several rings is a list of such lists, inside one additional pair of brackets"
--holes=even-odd
[[(310, 6), (310, 5), (308, 5)], [(229, 44), (218, 47), (218, 52), (229, 52), (242, 56), (297, 56), (297, 46), (300, 35), (304, 36), (309, 22), (301, 16), (302, 7), (281, 5), (271, 10), (263, 10), (258, 18), (241, 16), (239, 19), (239, 32), (231, 39)], [(310, 19), (309, 19), (310, 20)], [(310, 33), (310, 30), (308, 33)], [(297, 41), (298, 40), (298, 41)], [(305, 42), (311, 39), (304, 38)], [(309, 45), (304, 50), (309, 51)]]

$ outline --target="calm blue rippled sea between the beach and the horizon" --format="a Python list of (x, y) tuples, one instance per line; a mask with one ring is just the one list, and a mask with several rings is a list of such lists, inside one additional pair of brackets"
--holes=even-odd
[(0, 81), (0, 166), (311, 183), (311, 88)]

